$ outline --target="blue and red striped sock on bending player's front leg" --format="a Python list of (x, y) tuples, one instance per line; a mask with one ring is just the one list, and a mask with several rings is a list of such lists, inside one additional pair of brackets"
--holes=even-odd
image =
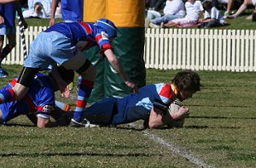
[(76, 109), (74, 110), (73, 119), (80, 122), (83, 119), (83, 109), (87, 104), (87, 100), (90, 97), (91, 90), (94, 82), (84, 79), (79, 79), (79, 95), (77, 100)]

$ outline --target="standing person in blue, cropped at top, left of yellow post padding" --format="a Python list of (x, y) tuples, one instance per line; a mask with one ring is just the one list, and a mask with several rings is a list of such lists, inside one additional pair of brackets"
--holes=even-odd
[[(53, 0), (49, 25), (55, 24), (55, 11), (60, 0)], [(84, 0), (61, 0), (61, 14), (64, 22), (82, 21), (84, 14)]]

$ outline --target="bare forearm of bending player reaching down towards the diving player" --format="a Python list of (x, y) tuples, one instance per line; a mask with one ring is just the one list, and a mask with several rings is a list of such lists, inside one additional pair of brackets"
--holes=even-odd
[(119, 59), (113, 53), (113, 50), (111, 48), (106, 49), (104, 51), (104, 54), (108, 58), (108, 61), (112, 65), (113, 69), (116, 70), (119, 73), (119, 75), (123, 78), (123, 80), (125, 81), (126, 86), (131, 87), (133, 92), (138, 92), (137, 85), (130, 80), (129, 76), (127, 76), (122, 64), (120, 64), (120, 62), (119, 62)]

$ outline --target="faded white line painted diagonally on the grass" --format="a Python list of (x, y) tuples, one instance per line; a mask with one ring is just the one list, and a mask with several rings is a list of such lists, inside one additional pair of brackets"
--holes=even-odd
[[(137, 125), (133, 124), (133, 123), (129, 124), (129, 126), (137, 128)], [(169, 150), (172, 150), (172, 152), (174, 152), (175, 154), (182, 156), (186, 160), (189, 160), (189, 162), (192, 162), (195, 165), (198, 165), (199, 167), (213, 168), (212, 165), (207, 165), (203, 160), (200, 160), (199, 158), (197, 158), (195, 156), (195, 154), (191, 154), (182, 148), (178, 148), (177, 145), (166, 142), (163, 138), (158, 137), (151, 132), (148, 132), (148, 130), (144, 130), (143, 135), (148, 137), (149, 139), (153, 140), (155, 143), (158, 143), (158, 144), (168, 148)]]

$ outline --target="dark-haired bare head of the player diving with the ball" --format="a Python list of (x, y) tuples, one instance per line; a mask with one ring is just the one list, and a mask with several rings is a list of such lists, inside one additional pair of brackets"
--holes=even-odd
[(191, 98), (193, 93), (201, 89), (200, 77), (192, 70), (178, 72), (172, 83), (177, 87), (177, 98), (181, 101)]

